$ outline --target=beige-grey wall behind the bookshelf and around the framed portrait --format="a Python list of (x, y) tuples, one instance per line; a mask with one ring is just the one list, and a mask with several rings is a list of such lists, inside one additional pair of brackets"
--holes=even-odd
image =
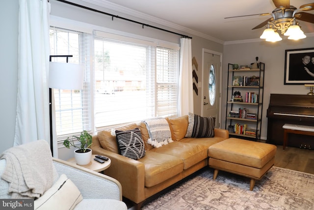
[[(262, 31), (261, 31), (262, 32)], [(226, 102), (228, 63), (250, 64), (255, 62), (255, 57), (265, 63), (264, 78), (264, 99), (262, 113), (262, 133), (261, 138), (267, 137), (266, 111), (269, 105), (270, 93), (281, 94), (307, 94), (309, 88), (303, 85), (284, 85), (285, 75), (285, 50), (313, 48), (314, 37), (307, 37), (302, 40), (283, 40), (277, 43), (266, 41), (224, 45), (223, 57), (223, 98)], [(230, 99), (229, 99), (230, 100)], [(222, 107), (222, 119), (226, 117), (226, 103)], [(223, 128), (225, 122), (223, 122)]]

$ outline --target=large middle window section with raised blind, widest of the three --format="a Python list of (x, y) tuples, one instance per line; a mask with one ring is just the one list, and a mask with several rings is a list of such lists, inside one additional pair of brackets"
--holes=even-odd
[(94, 48), (96, 127), (154, 117), (154, 48), (101, 37)]

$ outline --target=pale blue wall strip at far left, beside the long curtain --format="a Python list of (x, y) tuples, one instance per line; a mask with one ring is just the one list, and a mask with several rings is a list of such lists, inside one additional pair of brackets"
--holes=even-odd
[(0, 154), (13, 146), (18, 72), (18, 0), (0, 3)]

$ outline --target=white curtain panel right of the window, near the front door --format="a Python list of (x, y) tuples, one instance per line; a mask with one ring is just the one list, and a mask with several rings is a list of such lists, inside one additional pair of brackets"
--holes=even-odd
[(189, 112), (194, 112), (191, 48), (191, 39), (181, 38), (178, 97), (179, 116), (188, 115)]

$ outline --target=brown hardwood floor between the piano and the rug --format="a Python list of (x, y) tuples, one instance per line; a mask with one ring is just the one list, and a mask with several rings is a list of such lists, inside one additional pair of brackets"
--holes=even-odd
[(314, 150), (277, 145), (275, 166), (314, 174)]

